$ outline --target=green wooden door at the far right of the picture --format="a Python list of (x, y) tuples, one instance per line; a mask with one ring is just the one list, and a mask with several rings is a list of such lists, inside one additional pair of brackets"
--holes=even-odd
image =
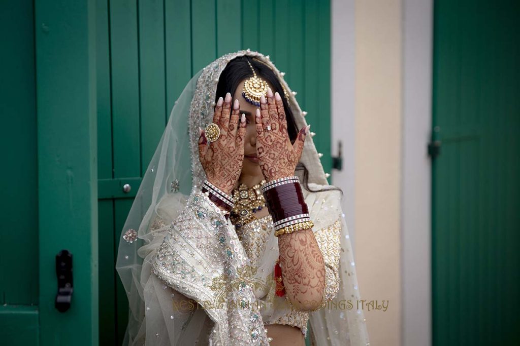
[(434, 13), (433, 344), (518, 345), (520, 3)]

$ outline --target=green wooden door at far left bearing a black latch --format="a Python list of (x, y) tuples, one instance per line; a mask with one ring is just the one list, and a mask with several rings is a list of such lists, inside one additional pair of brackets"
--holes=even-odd
[[(99, 339), (93, 15), (88, 0), (0, 2), (2, 345)], [(61, 250), (73, 273), (63, 312)]]

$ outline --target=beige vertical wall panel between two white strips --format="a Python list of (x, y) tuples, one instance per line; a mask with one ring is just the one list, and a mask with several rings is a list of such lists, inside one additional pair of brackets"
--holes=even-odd
[(355, 2), (355, 230), (370, 344), (401, 344), (401, 2)]

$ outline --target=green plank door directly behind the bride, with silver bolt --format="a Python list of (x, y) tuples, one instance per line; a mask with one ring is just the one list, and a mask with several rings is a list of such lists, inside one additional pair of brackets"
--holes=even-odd
[[(319, 0), (97, 0), (99, 337), (120, 344), (127, 299), (115, 272), (122, 227), (171, 108), (225, 53), (268, 54), (330, 156), (330, 3)], [(129, 193), (122, 191), (130, 184)]]

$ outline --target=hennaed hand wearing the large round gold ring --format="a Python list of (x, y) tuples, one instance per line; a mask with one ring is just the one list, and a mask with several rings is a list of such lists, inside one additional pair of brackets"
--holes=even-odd
[[(240, 104), (235, 100), (231, 110), (231, 94), (226, 99), (218, 99), (213, 122), (220, 129), (215, 142), (208, 142), (204, 130), (200, 130), (199, 159), (206, 172), (207, 181), (228, 195), (235, 186), (244, 160), (245, 116), (239, 123)], [(238, 127), (237, 127), (238, 126)]]

